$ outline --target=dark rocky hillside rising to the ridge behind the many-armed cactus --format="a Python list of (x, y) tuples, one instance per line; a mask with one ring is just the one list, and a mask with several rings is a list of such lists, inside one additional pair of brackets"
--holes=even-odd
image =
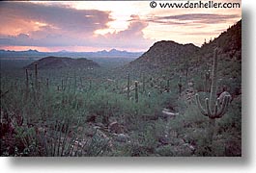
[(231, 93), (241, 94), (242, 20), (213, 40), (205, 42), (200, 48), (193, 44), (158, 41), (141, 57), (118, 69), (118, 73), (130, 74), (136, 79), (142, 75), (158, 81), (168, 79), (171, 83), (177, 83), (179, 76), (182, 76), (185, 86), (193, 81), (196, 89), (200, 91), (204, 87), (205, 74), (212, 71), (215, 47), (219, 48), (219, 89), (226, 86)]

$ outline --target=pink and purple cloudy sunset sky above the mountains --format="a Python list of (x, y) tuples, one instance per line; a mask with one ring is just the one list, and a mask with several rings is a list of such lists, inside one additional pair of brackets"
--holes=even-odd
[(150, 2), (0, 2), (0, 49), (147, 51), (159, 40), (201, 46), (242, 18), (241, 8), (162, 9)]

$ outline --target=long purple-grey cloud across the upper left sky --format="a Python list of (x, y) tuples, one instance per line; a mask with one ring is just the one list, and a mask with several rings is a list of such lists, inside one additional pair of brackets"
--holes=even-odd
[[(97, 10), (75, 10), (67, 6), (47, 6), (22, 2), (1, 2), (1, 18), (22, 19), (46, 23), (47, 25), (72, 32), (93, 32), (107, 27), (109, 12)], [(1, 22), (2, 23), (2, 22)]]

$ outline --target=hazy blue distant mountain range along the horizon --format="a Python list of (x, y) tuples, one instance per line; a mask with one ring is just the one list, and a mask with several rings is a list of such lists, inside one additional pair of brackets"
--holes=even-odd
[(0, 50), (0, 59), (41, 59), (48, 56), (71, 57), (71, 58), (138, 58), (143, 52), (128, 52), (111, 49), (110, 51), (102, 50), (97, 52), (69, 52), (62, 50), (59, 52), (39, 52), (37, 50), (27, 51), (10, 51)]

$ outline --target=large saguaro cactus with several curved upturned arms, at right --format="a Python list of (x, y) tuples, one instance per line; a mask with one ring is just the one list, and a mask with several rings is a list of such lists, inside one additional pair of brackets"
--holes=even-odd
[(198, 109), (201, 111), (201, 113), (205, 116), (208, 116), (210, 118), (209, 122), (209, 140), (210, 143), (213, 141), (213, 134), (214, 134), (214, 127), (215, 127), (215, 119), (222, 117), (225, 112), (227, 111), (227, 108), (230, 103), (230, 96), (225, 96), (224, 101), (220, 104), (219, 98), (216, 98), (216, 90), (217, 90), (217, 48), (214, 50), (213, 55), (213, 73), (212, 73), (212, 85), (211, 85), (211, 94), (210, 99), (205, 99), (205, 109), (200, 103), (199, 95), (196, 94), (196, 103), (198, 106)]

